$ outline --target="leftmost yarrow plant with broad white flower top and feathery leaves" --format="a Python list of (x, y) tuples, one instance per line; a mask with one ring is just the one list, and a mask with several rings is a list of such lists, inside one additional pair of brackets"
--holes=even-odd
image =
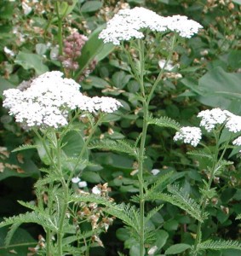
[[(80, 198), (83, 195), (91, 197), (96, 193), (95, 188), (89, 193), (88, 184), (78, 176), (88, 163), (87, 147), (96, 128), (106, 113), (117, 111), (122, 104), (111, 97), (84, 96), (79, 90), (80, 85), (73, 79), (65, 79), (63, 73), (53, 71), (20, 84), (19, 89), (3, 92), (3, 107), (9, 108), (9, 114), (14, 116), (16, 122), (37, 135), (35, 145), (23, 145), (15, 151), (28, 148), (43, 150), (42, 160), (49, 168), (43, 170), (47, 175), (35, 185), (37, 205), (20, 202), (33, 212), (6, 219), (0, 226), (13, 224), (14, 230), (16, 225), (25, 222), (42, 225), (46, 232), (46, 242), (43, 247), (35, 248), (35, 253), (41, 255), (71, 253), (72, 246), (63, 242), (69, 232), (75, 234), (75, 239), (71, 239), (71, 244), (78, 244), (75, 252), (88, 254), (92, 241), (102, 246), (100, 232), (106, 232), (112, 224), (112, 218), (103, 212), (103, 207), (99, 207), (98, 203), (91, 208), (91, 199), (85, 198), (86, 201), (82, 202)], [(81, 115), (89, 119), (90, 125), (85, 140), (80, 132)], [(75, 144), (74, 151), (69, 140)], [(74, 183), (77, 183), (77, 187)], [(105, 197), (107, 204), (112, 199), (106, 194), (109, 191), (107, 183), (105, 187), (106, 192), (101, 192), (100, 196)], [(85, 221), (92, 224), (89, 233), (84, 233), (81, 228)], [(9, 234), (7, 243), (12, 232)]]

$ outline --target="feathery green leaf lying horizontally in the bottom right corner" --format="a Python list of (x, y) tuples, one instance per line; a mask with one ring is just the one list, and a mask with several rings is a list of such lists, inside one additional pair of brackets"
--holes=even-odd
[(200, 250), (224, 250), (224, 249), (236, 249), (241, 250), (241, 243), (238, 241), (232, 241), (232, 240), (219, 240), (219, 241), (213, 241), (208, 240), (201, 242), (198, 244), (198, 249)]

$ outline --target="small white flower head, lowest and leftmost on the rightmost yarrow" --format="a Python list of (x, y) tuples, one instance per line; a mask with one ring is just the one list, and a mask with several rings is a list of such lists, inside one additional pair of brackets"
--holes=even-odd
[(183, 141), (184, 143), (191, 144), (193, 147), (197, 147), (198, 143), (202, 138), (202, 131), (198, 127), (182, 127), (180, 131), (175, 133), (173, 140)]

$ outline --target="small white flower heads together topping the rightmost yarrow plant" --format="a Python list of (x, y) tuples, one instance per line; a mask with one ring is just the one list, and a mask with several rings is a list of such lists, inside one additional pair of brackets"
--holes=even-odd
[[(200, 126), (208, 132), (213, 131), (215, 128), (226, 128), (228, 131), (237, 133), (241, 131), (241, 116), (231, 113), (221, 108), (213, 108), (201, 111), (198, 113), (198, 118), (201, 118)], [(201, 129), (198, 127), (182, 127), (180, 131), (175, 133), (174, 141), (183, 141), (196, 147), (202, 137)], [(241, 146), (241, 136), (237, 137), (233, 145)]]

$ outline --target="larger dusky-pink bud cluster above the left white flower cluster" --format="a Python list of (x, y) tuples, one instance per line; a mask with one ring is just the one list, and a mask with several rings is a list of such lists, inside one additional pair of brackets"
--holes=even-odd
[(66, 38), (64, 41), (64, 53), (59, 57), (63, 67), (68, 70), (77, 70), (79, 66), (76, 60), (81, 55), (81, 50), (87, 40), (88, 38), (78, 32), (74, 32)]

